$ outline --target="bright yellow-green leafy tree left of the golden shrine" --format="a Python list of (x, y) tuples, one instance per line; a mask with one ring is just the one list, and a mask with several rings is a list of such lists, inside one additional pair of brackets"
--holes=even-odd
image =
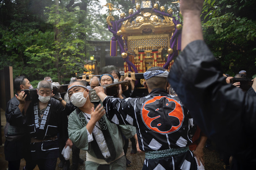
[[(85, 71), (77, 63), (85, 58), (85, 42), (80, 38), (86, 29), (83, 24), (78, 23), (78, 11), (69, 12), (55, 5), (46, 9), (48, 22), (53, 25), (55, 33), (39, 32), (38, 41), (27, 47), (25, 56), (30, 58), (28, 64), (36, 68), (37, 74), (55, 75), (53, 79), (57, 78), (61, 83), (64, 77)], [(42, 44), (42, 41), (48, 41), (49, 45)]]

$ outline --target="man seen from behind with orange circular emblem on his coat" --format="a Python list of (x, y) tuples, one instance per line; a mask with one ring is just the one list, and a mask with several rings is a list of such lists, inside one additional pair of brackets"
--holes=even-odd
[(107, 96), (102, 87), (95, 90), (111, 122), (137, 128), (139, 148), (145, 151), (143, 170), (197, 169), (188, 148), (193, 119), (179, 98), (166, 92), (168, 74), (161, 67), (148, 69), (143, 74), (149, 91), (145, 97), (121, 100)]

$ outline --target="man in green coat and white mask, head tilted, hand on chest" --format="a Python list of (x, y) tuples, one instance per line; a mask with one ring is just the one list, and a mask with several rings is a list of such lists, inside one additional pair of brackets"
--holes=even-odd
[(124, 141), (136, 134), (133, 126), (119, 126), (106, 118), (99, 102), (89, 100), (89, 90), (83, 81), (69, 85), (68, 95), (78, 108), (69, 115), (69, 138), (86, 152), (86, 170), (126, 170)]

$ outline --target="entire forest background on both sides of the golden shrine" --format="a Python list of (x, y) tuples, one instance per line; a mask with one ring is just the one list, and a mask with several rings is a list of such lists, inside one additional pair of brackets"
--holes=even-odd
[[(128, 16), (131, 0), (107, 0)], [(174, 0), (173, 0), (174, 1)], [(179, 4), (152, 0), (181, 16)], [(202, 11), (204, 38), (223, 67), (234, 76), (256, 75), (256, 1), (206, 0)], [(0, 0), (0, 69), (13, 67), (13, 76), (25, 75), (32, 85), (45, 76), (68, 83), (82, 75), (92, 47), (86, 40), (110, 41), (107, 8), (94, 0)], [(207, 75), (206, 75), (207, 76)]]

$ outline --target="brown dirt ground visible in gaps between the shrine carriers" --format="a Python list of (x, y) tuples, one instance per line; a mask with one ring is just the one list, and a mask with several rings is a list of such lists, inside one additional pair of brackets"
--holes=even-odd
[[(6, 124), (5, 112), (1, 109), (1, 131), (2, 131), (2, 143), (5, 142), (4, 137), (4, 126)], [(130, 154), (132, 150), (132, 145), (129, 143), (128, 151), (127, 151), (127, 159), (129, 159), (132, 164), (127, 170), (141, 170), (145, 158), (144, 153), (136, 153), (134, 155)], [(71, 153), (72, 154), (72, 153)], [(80, 151), (80, 158), (86, 160), (86, 151)], [(204, 161), (205, 161), (205, 169), (206, 170), (224, 170), (224, 163), (219, 160), (219, 153), (216, 151), (211, 151), (207, 148), (204, 148)], [(58, 158), (56, 170), (61, 170), (62, 168), (58, 168), (60, 160)], [(21, 160), (20, 170), (23, 169), (26, 162), (24, 159)], [(7, 170), (8, 162), (5, 160), (4, 155), (4, 145), (0, 146), (0, 170)], [(70, 169), (72, 169), (72, 157), (70, 155)], [(38, 166), (36, 166), (35, 170), (39, 170)], [(79, 165), (79, 170), (85, 170), (85, 163), (83, 165)]]

